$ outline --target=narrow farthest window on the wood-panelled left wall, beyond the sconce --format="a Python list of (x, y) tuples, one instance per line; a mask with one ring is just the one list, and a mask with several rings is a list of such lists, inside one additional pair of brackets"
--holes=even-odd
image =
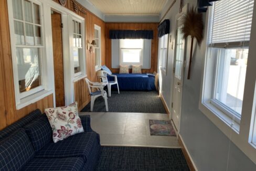
[(94, 25), (94, 40), (96, 45), (94, 46), (95, 51), (95, 69), (101, 69), (101, 27)]

